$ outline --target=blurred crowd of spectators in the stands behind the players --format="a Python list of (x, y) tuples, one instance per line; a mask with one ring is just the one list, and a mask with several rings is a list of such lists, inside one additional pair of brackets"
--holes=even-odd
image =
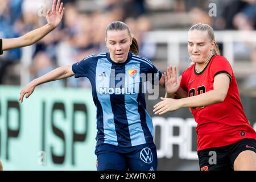
[[(33, 47), (30, 79), (84, 57), (107, 52), (105, 28), (121, 20), (129, 25), (139, 42), (140, 56), (158, 61), (158, 45), (144, 43), (143, 35), (154, 30), (185, 30), (192, 24), (207, 23), (214, 30), (251, 30), (256, 28), (256, 0), (77, 0), (64, 2), (61, 26)], [(0, 38), (15, 38), (46, 24), (39, 11), (51, 0), (1, 0)], [(209, 4), (217, 5), (217, 15), (209, 16)], [(256, 70), (256, 43), (241, 46), (234, 52)], [(221, 45), (220, 45), (221, 48)], [(0, 84), (19, 85), (21, 49), (5, 51), (0, 56)], [(167, 65), (165, 65), (167, 66)], [(161, 70), (164, 71), (164, 70)], [(89, 87), (86, 78), (51, 82), (44, 86)], [(256, 72), (243, 79), (243, 86), (256, 89)]]

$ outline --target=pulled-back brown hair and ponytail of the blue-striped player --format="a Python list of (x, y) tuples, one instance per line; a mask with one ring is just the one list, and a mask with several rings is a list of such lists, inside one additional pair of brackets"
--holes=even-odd
[[(127, 26), (127, 24), (125, 24), (123, 22), (116, 21), (116, 22), (109, 23), (109, 25), (106, 27), (105, 37), (107, 37), (107, 33), (109, 30), (127, 30), (129, 36), (131, 37), (130, 28)], [(133, 42), (131, 43), (131, 46), (130, 46), (130, 52), (133, 52), (136, 55), (138, 55), (139, 54), (139, 44), (134, 37), (133, 37), (132, 41)]]

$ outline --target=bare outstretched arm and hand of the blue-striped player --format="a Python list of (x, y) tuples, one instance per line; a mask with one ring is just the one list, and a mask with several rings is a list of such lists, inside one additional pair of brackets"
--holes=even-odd
[(46, 75), (43, 75), (29, 82), (20, 92), (19, 101), (23, 102), (23, 97), (25, 95), (26, 98), (30, 97), (31, 94), (34, 92), (35, 87), (40, 84), (44, 84), (49, 81), (60, 80), (63, 78), (71, 77), (73, 75), (75, 75), (75, 73), (73, 73), (71, 65), (56, 68), (53, 71), (47, 73)]

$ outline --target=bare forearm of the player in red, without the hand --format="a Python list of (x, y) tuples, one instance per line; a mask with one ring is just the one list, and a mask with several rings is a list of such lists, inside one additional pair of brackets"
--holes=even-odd
[(180, 99), (181, 107), (198, 107), (217, 104), (224, 101), (224, 95), (218, 90), (210, 90), (203, 94)]

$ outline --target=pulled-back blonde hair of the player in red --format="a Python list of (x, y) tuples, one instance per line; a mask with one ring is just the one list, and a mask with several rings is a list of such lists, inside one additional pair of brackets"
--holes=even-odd
[(218, 46), (216, 44), (215, 38), (214, 38), (214, 32), (213, 32), (213, 28), (211, 26), (209, 26), (208, 24), (204, 24), (204, 23), (198, 23), (193, 25), (191, 28), (189, 28), (189, 31), (193, 31), (193, 30), (198, 30), (198, 31), (203, 31), (203, 32), (207, 32), (210, 42), (214, 42), (214, 49), (213, 49), (213, 53), (216, 55), (221, 55), (220, 53), (220, 49), (218, 49)]

